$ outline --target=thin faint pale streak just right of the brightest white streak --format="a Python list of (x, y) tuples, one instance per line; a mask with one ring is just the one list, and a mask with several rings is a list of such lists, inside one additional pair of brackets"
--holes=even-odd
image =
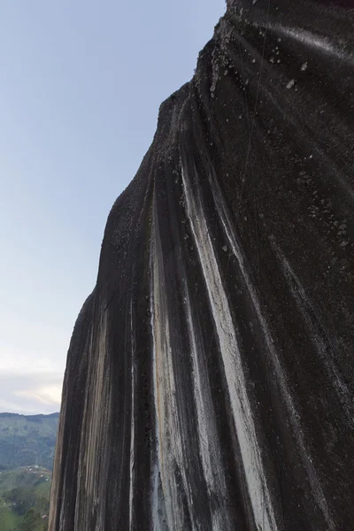
[(233, 254), (235, 255), (238, 266), (240, 267), (242, 278), (247, 286), (253, 308), (257, 314), (258, 323), (263, 333), (266, 349), (269, 353), (268, 359), (271, 362), (271, 365), (273, 366), (274, 373), (276, 374), (276, 381), (279, 386), (279, 389), (281, 390), (281, 395), (284, 400), (284, 403), (287, 406), (289, 420), (291, 422), (293, 433), (296, 437), (298, 450), (303, 460), (304, 468), (307, 472), (309, 482), (311, 484), (312, 496), (314, 497), (316, 503), (319, 506), (319, 509), (322, 511), (327, 521), (328, 529), (334, 530), (335, 527), (327, 509), (327, 503), (323, 493), (323, 489), (321, 487), (315, 467), (312, 465), (311, 454), (307, 448), (307, 444), (304, 441), (304, 433), (299, 420), (300, 417), (299, 414), (296, 412), (296, 407), (289, 391), (289, 384), (287, 382), (284, 370), (281, 366), (281, 360), (278, 356), (277, 351), (274, 348), (271, 331), (266, 323), (264, 315), (261, 312), (258, 295), (256, 293), (256, 290), (254, 289), (252, 281), (250, 280), (250, 275), (247, 272), (247, 267), (245, 264), (242, 249), (236, 240), (235, 229), (233, 228), (231, 219), (229, 218), (228, 212), (226, 210), (225, 201), (222, 197), (221, 190), (219, 189), (219, 183), (216, 179), (212, 178), (211, 173), (209, 175), (209, 182), (211, 184), (215, 205), (219, 213), (219, 219), (221, 220), (222, 226), (224, 227), (225, 235), (227, 236), (230, 248), (233, 251)]

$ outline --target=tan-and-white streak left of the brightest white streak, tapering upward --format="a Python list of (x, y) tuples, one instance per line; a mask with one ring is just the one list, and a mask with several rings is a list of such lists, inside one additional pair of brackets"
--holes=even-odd
[[(183, 443), (181, 426), (176, 404), (176, 389), (173, 374), (173, 354), (170, 341), (170, 322), (167, 301), (165, 297), (165, 272), (158, 231), (157, 210), (153, 204), (153, 222), (151, 228), (150, 250), (150, 301), (151, 327), (153, 338), (153, 366), (154, 366), (154, 401), (156, 409), (157, 441), (158, 441), (158, 469), (153, 478), (152, 513), (154, 530), (162, 529), (161, 508), (158, 499), (158, 470), (160, 473), (163, 495), (165, 499), (165, 513), (169, 531), (183, 531), (184, 511), (181, 504), (181, 486), (177, 484), (175, 466), (179, 466), (182, 488), (189, 505), (189, 514), (193, 515), (193, 500), (191, 489), (187, 481), (187, 463), (183, 458)], [(196, 523), (192, 516), (192, 529)]]

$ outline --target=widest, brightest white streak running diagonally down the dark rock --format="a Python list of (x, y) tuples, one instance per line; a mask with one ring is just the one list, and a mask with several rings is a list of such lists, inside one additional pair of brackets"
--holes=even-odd
[(197, 190), (190, 187), (189, 175), (183, 166), (181, 167), (181, 173), (187, 214), (195, 238), (196, 249), (212, 308), (212, 316), (218, 334), (219, 350), (224, 364), (230, 404), (253, 516), (256, 526), (262, 531), (276, 531), (278, 527), (275, 521), (271, 496), (266, 485), (265, 469), (258, 446), (252, 408), (236, 338), (237, 333), (229, 309), (227, 294), (221, 281), (218, 262), (208, 234), (201, 198)]

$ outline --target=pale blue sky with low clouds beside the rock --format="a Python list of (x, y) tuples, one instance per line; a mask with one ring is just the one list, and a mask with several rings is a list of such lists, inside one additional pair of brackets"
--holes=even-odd
[(224, 0), (0, 6), (0, 412), (58, 411), (108, 212)]

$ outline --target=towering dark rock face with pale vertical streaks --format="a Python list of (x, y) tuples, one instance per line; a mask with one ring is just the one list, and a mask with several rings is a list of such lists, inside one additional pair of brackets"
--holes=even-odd
[(353, 12), (231, 1), (112, 208), (51, 531), (354, 528)]

